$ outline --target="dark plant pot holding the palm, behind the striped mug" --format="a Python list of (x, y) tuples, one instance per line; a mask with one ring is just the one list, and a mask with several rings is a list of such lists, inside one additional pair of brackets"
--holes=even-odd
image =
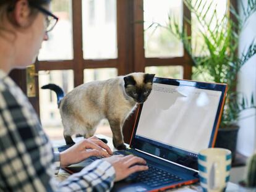
[(220, 128), (216, 138), (215, 148), (225, 148), (232, 152), (232, 161), (236, 158), (236, 143), (239, 127), (232, 125), (226, 128)]

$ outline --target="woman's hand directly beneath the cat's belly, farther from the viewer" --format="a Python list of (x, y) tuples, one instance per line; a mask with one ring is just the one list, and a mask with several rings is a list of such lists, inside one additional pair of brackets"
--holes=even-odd
[(61, 167), (78, 163), (90, 156), (103, 156), (109, 157), (113, 152), (109, 146), (103, 141), (99, 140), (96, 136), (84, 139), (75, 143), (69, 149), (60, 153)]

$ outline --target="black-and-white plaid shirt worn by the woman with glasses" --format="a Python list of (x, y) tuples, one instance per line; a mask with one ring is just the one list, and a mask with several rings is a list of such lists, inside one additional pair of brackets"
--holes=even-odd
[(95, 161), (59, 183), (49, 139), (27, 97), (0, 70), (0, 191), (109, 191), (115, 172)]

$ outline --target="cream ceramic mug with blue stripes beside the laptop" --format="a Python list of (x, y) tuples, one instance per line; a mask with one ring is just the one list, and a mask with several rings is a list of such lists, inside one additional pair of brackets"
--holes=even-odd
[(199, 152), (198, 170), (203, 191), (224, 191), (230, 169), (231, 151), (228, 149), (208, 148)]

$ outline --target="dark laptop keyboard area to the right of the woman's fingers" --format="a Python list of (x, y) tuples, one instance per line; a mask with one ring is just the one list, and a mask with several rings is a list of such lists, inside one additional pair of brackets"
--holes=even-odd
[(151, 187), (165, 185), (169, 183), (181, 182), (182, 178), (177, 177), (173, 173), (168, 173), (164, 170), (158, 169), (148, 165), (148, 170), (133, 173), (126, 178), (127, 182), (142, 182)]

